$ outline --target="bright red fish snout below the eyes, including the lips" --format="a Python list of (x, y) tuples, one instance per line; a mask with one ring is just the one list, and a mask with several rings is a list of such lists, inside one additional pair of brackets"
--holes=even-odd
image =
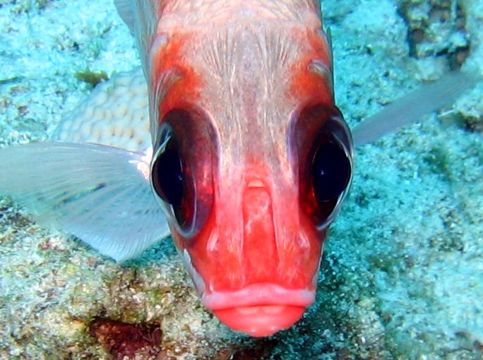
[(326, 236), (304, 216), (297, 188), (271, 180), (230, 181), (238, 186), (217, 194), (201, 232), (173, 232), (203, 304), (254, 337), (290, 328), (314, 302)]

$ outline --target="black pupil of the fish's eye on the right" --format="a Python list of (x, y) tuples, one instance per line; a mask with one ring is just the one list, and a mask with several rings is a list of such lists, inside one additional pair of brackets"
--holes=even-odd
[(320, 203), (335, 200), (350, 181), (350, 161), (345, 151), (333, 140), (323, 144), (314, 156), (312, 179), (314, 193)]

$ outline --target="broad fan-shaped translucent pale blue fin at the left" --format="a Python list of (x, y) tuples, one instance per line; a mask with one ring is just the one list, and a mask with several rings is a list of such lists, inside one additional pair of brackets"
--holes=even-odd
[(0, 193), (100, 253), (133, 258), (169, 234), (149, 159), (105, 145), (32, 143), (0, 150)]

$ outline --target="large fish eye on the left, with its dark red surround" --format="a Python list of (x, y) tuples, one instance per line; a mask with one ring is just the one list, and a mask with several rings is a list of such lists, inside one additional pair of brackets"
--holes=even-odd
[(163, 116), (153, 145), (150, 180), (155, 197), (179, 234), (189, 239), (213, 206), (217, 137), (202, 109), (173, 109)]

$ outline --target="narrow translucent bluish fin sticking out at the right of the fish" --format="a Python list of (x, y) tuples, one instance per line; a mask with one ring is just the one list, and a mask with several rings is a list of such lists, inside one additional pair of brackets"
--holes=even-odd
[(477, 73), (447, 73), (434, 83), (422, 85), (413, 92), (386, 106), (352, 130), (354, 145), (364, 145), (396, 128), (420, 119), (449, 104), (465, 90), (472, 88), (481, 76)]

